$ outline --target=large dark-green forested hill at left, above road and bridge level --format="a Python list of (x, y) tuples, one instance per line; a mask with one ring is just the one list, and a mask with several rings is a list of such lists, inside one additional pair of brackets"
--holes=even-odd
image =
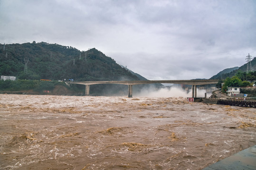
[(0, 44), (0, 75), (32, 80), (139, 80), (95, 48), (79, 51), (46, 42)]

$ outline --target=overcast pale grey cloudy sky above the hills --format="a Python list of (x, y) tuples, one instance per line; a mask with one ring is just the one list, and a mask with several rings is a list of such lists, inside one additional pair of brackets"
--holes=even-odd
[(0, 43), (96, 48), (150, 80), (210, 78), (256, 57), (256, 0), (0, 0)]

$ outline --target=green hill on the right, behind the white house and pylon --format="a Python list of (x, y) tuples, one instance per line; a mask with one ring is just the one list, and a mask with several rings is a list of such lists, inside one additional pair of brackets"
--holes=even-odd
[[(251, 65), (253, 71), (256, 71), (256, 57), (251, 60)], [(237, 72), (246, 72), (247, 71), (247, 63), (242, 65), (241, 67), (234, 67), (234, 68), (226, 68), (220, 71), (217, 75), (212, 76), (210, 79), (226, 79), (227, 77), (232, 77), (237, 74)]]

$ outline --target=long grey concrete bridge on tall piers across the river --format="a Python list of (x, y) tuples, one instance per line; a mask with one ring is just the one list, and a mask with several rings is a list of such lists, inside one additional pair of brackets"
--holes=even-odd
[(155, 83), (192, 85), (192, 97), (197, 97), (197, 85), (217, 84), (218, 80), (84, 81), (84, 82), (65, 82), (65, 83), (66, 85), (70, 85), (70, 84), (85, 85), (85, 95), (89, 95), (90, 85), (97, 85), (97, 84), (128, 85), (128, 97), (133, 97), (133, 85), (155, 84)]

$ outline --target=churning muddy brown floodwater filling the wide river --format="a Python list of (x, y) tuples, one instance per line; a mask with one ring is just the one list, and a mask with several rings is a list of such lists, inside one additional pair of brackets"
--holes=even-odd
[(0, 94), (0, 169), (200, 170), (256, 144), (256, 109)]

